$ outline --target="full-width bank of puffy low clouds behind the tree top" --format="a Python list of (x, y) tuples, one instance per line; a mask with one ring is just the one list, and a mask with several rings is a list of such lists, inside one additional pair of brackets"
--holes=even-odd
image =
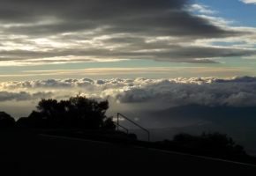
[(115, 104), (256, 106), (256, 77), (49, 79), (3, 82), (0, 90), (0, 102), (68, 99), (80, 92)]

